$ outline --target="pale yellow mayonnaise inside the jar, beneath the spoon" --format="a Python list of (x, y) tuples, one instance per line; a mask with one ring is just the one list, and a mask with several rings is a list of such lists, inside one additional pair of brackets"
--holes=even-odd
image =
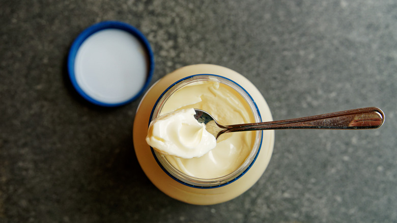
[[(254, 122), (252, 111), (244, 98), (231, 87), (217, 81), (195, 82), (179, 89), (166, 100), (160, 116), (188, 108), (205, 110), (222, 125)], [(180, 131), (178, 137), (177, 133), (168, 131), (167, 128), (149, 129), (151, 131), (158, 131), (163, 137), (177, 138), (177, 141), (183, 141), (184, 144), (189, 138), (199, 141), (199, 137), (194, 133), (190, 135), (188, 131)], [(215, 148), (201, 157), (180, 158), (182, 152), (179, 152), (183, 148), (175, 150), (178, 152), (173, 154), (177, 156), (166, 152), (169, 155), (165, 157), (187, 175), (203, 179), (222, 177), (237, 170), (244, 162), (252, 149), (255, 135), (256, 132), (253, 131), (225, 133), (219, 136)]]

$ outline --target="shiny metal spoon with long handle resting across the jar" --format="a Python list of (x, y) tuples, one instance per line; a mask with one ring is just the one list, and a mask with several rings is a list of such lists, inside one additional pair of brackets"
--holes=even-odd
[(309, 116), (272, 122), (259, 122), (238, 125), (220, 125), (204, 110), (194, 109), (194, 118), (204, 123), (206, 130), (217, 139), (226, 132), (239, 132), (268, 129), (370, 129), (379, 128), (384, 120), (383, 111), (377, 107), (366, 107), (337, 111), (324, 115)]

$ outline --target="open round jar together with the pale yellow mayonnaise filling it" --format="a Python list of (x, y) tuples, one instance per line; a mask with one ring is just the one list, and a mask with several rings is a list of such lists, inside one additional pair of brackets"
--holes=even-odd
[(133, 127), (139, 164), (151, 182), (174, 199), (197, 205), (232, 200), (264, 173), (273, 151), (274, 131), (221, 135), (207, 154), (190, 159), (164, 155), (145, 141), (156, 117), (186, 108), (208, 111), (220, 124), (272, 121), (258, 89), (241, 74), (216, 65), (180, 68), (158, 80), (141, 100)]

